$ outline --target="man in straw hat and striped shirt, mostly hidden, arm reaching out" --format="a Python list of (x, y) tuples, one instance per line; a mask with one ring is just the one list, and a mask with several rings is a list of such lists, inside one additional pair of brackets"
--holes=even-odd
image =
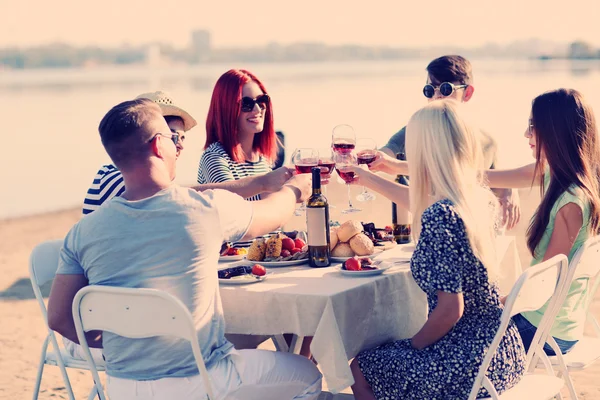
[[(183, 150), (185, 132), (197, 125), (196, 120), (184, 109), (175, 105), (173, 99), (166, 93), (158, 91), (144, 93), (136, 99), (150, 99), (160, 107), (167, 125), (173, 135), (177, 135), (177, 155)], [(279, 168), (268, 174), (250, 176), (237, 181), (221, 183), (200, 184), (194, 186), (196, 190), (225, 189), (234, 192), (244, 198), (255, 196), (263, 192), (273, 192), (281, 188), (292, 176), (288, 168)], [(92, 185), (87, 191), (83, 202), (83, 214), (89, 214), (97, 210), (106, 201), (116, 196), (121, 196), (125, 191), (123, 175), (121, 171), (112, 164), (104, 165), (96, 173)]]

